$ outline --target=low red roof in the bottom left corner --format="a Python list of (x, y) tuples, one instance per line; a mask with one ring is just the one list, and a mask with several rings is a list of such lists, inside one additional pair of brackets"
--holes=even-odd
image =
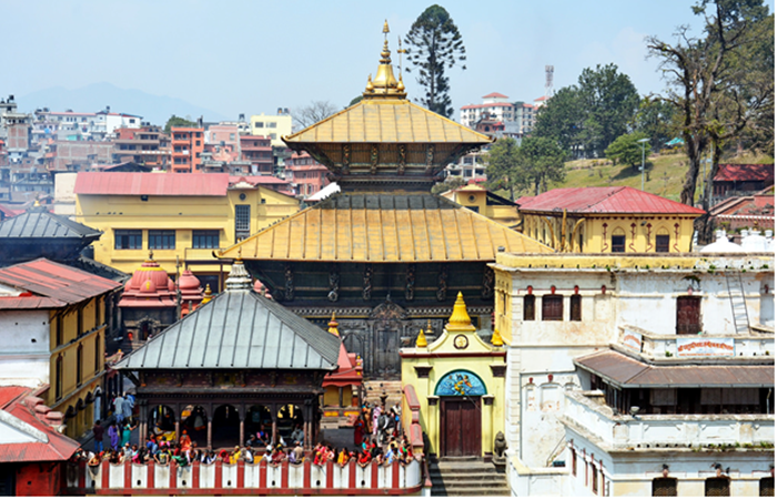
[[(0, 400), (8, 401), (2, 409), (13, 418), (9, 424), (17, 426), (32, 440), (22, 444), (0, 444), (0, 462), (67, 461), (79, 449), (79, 442), (60, 434), (40, 419), (44, 418), (47, 413), (40, 413), (41, 416), (39, 416), (33, 408), (20, 400), (22, 395), (30, 391), (30, 388), (18, 386), (0, 387)], [(32, 435), (30, 430), (26, 431), (24, 425), (20, 425), (19, 421), (41, 431), (47, 441), (38, 438), (40, 434)]]

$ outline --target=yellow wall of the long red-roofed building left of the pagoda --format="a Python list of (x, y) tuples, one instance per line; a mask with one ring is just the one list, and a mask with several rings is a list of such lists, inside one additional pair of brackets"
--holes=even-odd
[[(240, 196), (245, 198), (241, 200)], [(175, 231), (174, 249), (154, 249), (154, 259), (169, 274), (175, 274), (175, 258), (182, 268), (192, 261), (213, 261), (212, 265), (198, 264), (196, 273), (219, 272), (220, 264), (212, 248), (192, 247), (193, 231), (218, 230), (221, 248), (235, 243), (235, 205), (251, 206), (251, 233), (294, 214), (299, 201), (275, 191), (259, 187), (229, 190), (225, 196), (140, 196), (77, 195), (75, 221), (103, 232), (93, 243), (94, 259), (132, 274), (149, 256), (149, 231)], [(115, 249), (117, 230), (141, 230), (141, 249)], [(229, 272), (229, 266), (224, 266)]]

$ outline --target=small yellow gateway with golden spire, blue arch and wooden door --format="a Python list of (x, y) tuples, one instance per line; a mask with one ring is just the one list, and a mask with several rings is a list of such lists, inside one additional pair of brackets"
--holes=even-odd
[[(402, 348), (402, 386), (415, 394), (431, 454), (491, 459), (504, 431), (505, 350), (478, 336), (461, 293), (443, 334)], [(410, 387), (410, 388), (408, 388)], [(477, 431), (476, 429), (480, 429)]]

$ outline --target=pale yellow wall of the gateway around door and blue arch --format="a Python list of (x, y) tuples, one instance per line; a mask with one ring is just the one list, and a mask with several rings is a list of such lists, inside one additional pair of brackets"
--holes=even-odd
[[(461, 294), (460, 294), (461, 298)], [(455, 307), (454, 307), (454, 314)], [(468, 317), (467, 317), (468, 320)], [(504, 356), (484, 356), (487, 353), (502, 353), (502, 347), (483, 342), (471, 326), (471, 330), (462, 330), (446, 326), (443, 334), (427, 347), (403, 348), (402, 355), (402, 386), (412, 385), (418, 397), (418, 422), (423, 431), (428, 436), (430, 451), (440, 456), (441, 451), (441, 409), (442, 400), (436, 405), (430, 405), (428, 397), (435, 396), (435, 389), (441, 379), (455, 370), (468, 370), (477, 375), (485, 385), (487, 396), (493, 397), (491, 404), (481, 399), (481, 455), (493, 452), (494, 437), (498, 431), (504, 432), (505, 420), (505, 377), (494, 376), (492, 365), (504, 366)], [(455, 338), (464, 335), (468, 339), (465, 349), (454, 346)], [(480, 355), (478, 355), (480, 354)], [(416, 366), (431, 366), (427, 378), (418, 378)], [(504, 373), (504, 371), (503, 371)]]

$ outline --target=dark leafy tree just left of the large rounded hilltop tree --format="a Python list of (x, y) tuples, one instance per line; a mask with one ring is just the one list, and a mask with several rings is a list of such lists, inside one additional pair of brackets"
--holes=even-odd
[(565, 150), (579, 149), (584, 112), (577, 86), (564, 86), (539, 108), (534, 136), (554, 139)]

